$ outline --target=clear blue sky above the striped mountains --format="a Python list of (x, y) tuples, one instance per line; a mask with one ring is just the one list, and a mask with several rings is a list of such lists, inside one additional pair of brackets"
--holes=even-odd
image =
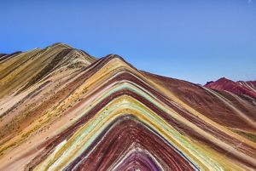
[(0, 52), (67, 43), (193, 83), (256, 80), (256, 0), (1, 0)]

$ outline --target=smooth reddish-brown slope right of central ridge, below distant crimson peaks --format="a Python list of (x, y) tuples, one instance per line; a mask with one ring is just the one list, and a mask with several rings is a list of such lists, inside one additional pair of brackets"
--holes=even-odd
[(255, 133), (256, 108), (250, 100), (229, 92), (214, 91), (193, 83), (144, 73), (214, 122)]

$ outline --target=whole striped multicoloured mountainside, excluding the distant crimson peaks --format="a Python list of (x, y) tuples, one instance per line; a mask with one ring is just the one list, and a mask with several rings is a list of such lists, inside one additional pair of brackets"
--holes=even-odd
[(256, 169), (251, 99), (62, 43), (3, 57), (0, 170)]

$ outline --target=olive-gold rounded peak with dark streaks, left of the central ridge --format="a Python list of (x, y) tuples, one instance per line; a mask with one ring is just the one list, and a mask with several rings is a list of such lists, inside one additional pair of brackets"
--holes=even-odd
[[(43, 49), (36, 48), (24, 53), (3, 55), (0, 61), (5, 62), (0, 68), (0, 79), (3, 78), (3, 83), (0, 84), (2, 90), (0, 96), (4, 96), (13, 93), (10, 89), (19, 94), (50, 74), (79, 70), (90, 66), (96, 59), (65, 43), (54, 43)], [(12, 77), (12, 74), (15, 77)], [(20, 77), (19, 83), (16, 82), (16, 77)], [(5, 79), (8, 82), (5, 82)]]

